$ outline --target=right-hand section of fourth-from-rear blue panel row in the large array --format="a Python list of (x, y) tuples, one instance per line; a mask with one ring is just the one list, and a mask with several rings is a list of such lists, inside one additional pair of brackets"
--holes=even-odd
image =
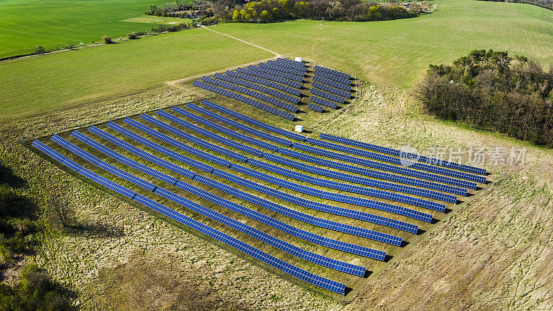
[(326, 167), (341, 169), (343, 171), (350, 171), (352, 173), (359, 173), (365, 176), (371, 176), (374, 178), (380, 178), (384, 180), (391, 180), (394, 182), (402, 182), (404, 184), (413, 185), (416, 187), (424, 187), (424, 188), (434, 189), (438, 191), (449, 192), (451, 194), (458, 194), (461, 196), (467, 195), (467, 189), (453, 187), (449, 185), (442, 185), (436, 182), (429, 182), (427, 180), (409, 178), (406, 176), (398, 176), (398, 175), (394, 175), (394, 174), (386, 173), (382, 171), (373, 171), (371, 169), (364, 169), (362, 167), (356, 167), (355, 165), (330, 161), (330, 160), (322, 159), (321, 157), (309, 156), (309, 155), (306, 155), (305, 153), (292, 151), (290, 149), (279, 148), (279, 153), (285, 154), (286, 156), (291, 156), (293, 158), (306, 160), (308, 162), (312, 162), (315, 164), (321, 164)]

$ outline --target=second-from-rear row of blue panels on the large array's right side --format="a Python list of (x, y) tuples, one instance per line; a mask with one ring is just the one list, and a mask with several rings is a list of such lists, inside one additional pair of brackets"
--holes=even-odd
[(482, 177), (482, 176), (477, 176), (477, 175), (473, 175), (473, 174), (470, 174), (470, 173), (465, 173), (465, 172), (462, 172), (462, 171), (453, 171), (451, 169), (444, 169), (442, 167), (433, 167), (431, 165), (422, 164), (422, 163), (418, 163), (418, 162), (411, 162), (411, 161), (408, 161), (406, 159), (400, 159), (400, 158), (394, 158), (394, 157), (391, 157), (391, 156), (385, 156), (383, 154), (374, 153), (374, 152), (366, 151), (366, 150), (362, 150), (362, 149), (356, 149), (356, 148), (352, 148), (352, 147), (347, 147), (347, 146), (344, 146), (344, 145), (341, 145), (341, 144), (335, 144), (333, 142), (326, 142), (324, 140), (317, 140), (315, 138), (308, 138), (306, 140), (306, 142), (309, 142), (310, 144), (316, 144), (317, 146), (325, 147), (325, 148), (328, 148), (328, 149), (344, 151), (344, 152), (347, 152), (347, 153), (355, 154), (357, 156), (364, 156), (366, 158), (373, 158), (373, 159), (380, 160), (380, 161), (383, 161), (383, 162), (389, 162), (389, 163), (398, 164), (398, 165), (404, 165), (404, 163), (409, 162), (409, 167), (411, 167), (413, 169), (420, 169), (422, 171), (430, 171), (430, 172), (433, 172), (433, 173), (440, 173), (442, 175), (453, 176), (453, 177), (456, 177), (456, 178), (462, 178), (462, 179), (472, 180), (472, 181), (476, 181), (476, 182), (484, 182), (484, 183), (486, 182), (486, 178)]

